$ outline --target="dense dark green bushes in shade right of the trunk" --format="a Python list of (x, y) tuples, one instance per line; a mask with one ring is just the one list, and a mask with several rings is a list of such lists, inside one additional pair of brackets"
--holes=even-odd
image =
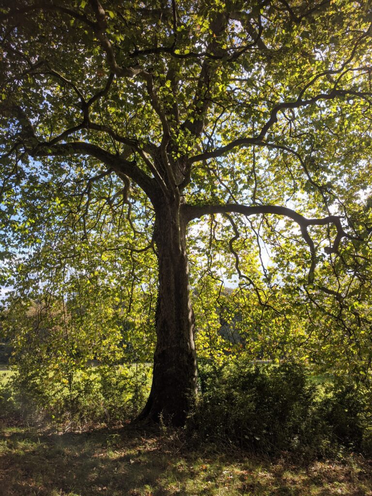
[[(371, 393), (350, 379), (314, 384), (295, 363), (244, 360), (199, 368), (200, 395), (189, 428), (203, 439), (259, 453), (305, 457), (372, 453)], [(195, 434), (194, 434), (195, 435)]]

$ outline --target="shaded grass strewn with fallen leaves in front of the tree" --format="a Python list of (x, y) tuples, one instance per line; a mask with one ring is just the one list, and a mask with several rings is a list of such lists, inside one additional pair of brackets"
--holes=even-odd
[[(3, 493), (1, 493), (1, 490)], [(177, 432), (93, 431), (0, 435), (0, 493), (8, 496), (372, 495), (372, 463), (272, 463), (213, 446), (190, 448)]]

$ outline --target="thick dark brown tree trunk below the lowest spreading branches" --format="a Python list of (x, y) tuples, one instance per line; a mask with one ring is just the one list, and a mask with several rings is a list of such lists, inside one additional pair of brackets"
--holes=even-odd
[(186, 224), (179, 209), (157, 209), (154, 240), (158, 252), (157, 344), (150, 396), (140, 418), (182, 426), (196, 389), (194, 321), (186, 254)]

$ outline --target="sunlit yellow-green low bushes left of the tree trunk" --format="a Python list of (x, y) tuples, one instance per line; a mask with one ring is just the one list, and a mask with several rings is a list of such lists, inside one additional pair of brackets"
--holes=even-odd
[(123, 423), (143, 407), (149, 373), (145, 365), (87, 367), (63, 377), (18, 371), (0, 384), (0, 418), (70, 430)]

